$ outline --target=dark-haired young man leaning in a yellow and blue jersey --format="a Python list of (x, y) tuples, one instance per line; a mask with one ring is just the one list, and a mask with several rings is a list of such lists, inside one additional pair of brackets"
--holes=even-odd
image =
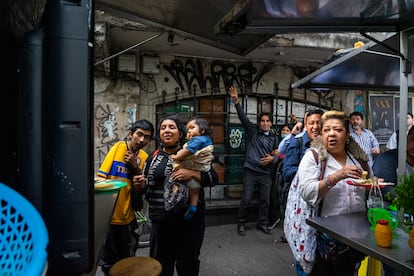
[(135, 212), (131, 207), (132, 177), (140, 174), (148, 154), (142, 149), (152, 139), (154, 126), (147, 120), (136, 121), (129, 129), (128, 139), (115, 143), (98, 170), (99, 180), (119, 179), (127, 186), (119, 191), (111, 226), (101, 254), (102, 271), (108, 274), (118, 260), (135, 256), (139, 235)]

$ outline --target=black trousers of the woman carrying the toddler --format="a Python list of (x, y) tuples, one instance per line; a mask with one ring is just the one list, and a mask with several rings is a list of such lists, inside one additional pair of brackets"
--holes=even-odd
[(200, 250), (205, 230), (204, 214), (191, 219), (152, 220), (150, 256), (162, 265), (161, 276), (196, 276), (200, 269)]

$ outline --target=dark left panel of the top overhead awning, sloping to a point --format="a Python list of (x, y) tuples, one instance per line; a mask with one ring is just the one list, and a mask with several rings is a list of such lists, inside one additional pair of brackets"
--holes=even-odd
[(165, 31), (173, 31), (183, 37), (244, 56), (273, 35), (215, 34), (214, 25), (236, 4), (237, 0), (96, 1), (98, 9), (110, 14)]

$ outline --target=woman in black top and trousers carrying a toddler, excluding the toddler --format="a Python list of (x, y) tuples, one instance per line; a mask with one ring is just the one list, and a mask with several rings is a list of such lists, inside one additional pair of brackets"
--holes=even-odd
[[(185, 137), (183, 124), (176, 116), (167, 116), (160, 121), (160, 148), (148, 158), (144, 176), (134, 177), (134, 186), (143, 191), (149, 202), (149, 216), (152, 223), (150, 256), (162, 265), (161, 275), (174, 275), (174, 267), (178, 275), (198, 275), (200, 267), (200, 249), (204, 238), (204, 193), (200, 191), (197, 213), (191, 219), (184, 219), (188, 202), (178, 202), (174, 208), (166, 211), (166, 183), (171, 177), (176, 182), (185, 183), (190, 179), (199, 181), (203, 186), (217, 183), (217, 174), (213, 169), (209, 172), (179, 169), (173, 171), (171, 154), (182, 147)], [(186, 188), (177, 187), (180, 193)], [(169, 202), (171, 204), (171, 202)]]

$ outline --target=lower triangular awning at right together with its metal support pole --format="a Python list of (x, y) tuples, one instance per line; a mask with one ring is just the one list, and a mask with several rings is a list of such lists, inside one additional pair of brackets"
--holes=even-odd
[[(411, 35), (411, 36), (410, 36)], [(413, 90), (414, 36), (400, 32), (381, 43), (370, 42), (292, 84), (293, 88), (335, 88), (399, 91), (400, 114), (407, 114), (408, 91)], [(400, 116), (399, 130), (407, 131), (405, 116)], [(398, 141), (398, 176), (405, 175), (407, 139)]]

